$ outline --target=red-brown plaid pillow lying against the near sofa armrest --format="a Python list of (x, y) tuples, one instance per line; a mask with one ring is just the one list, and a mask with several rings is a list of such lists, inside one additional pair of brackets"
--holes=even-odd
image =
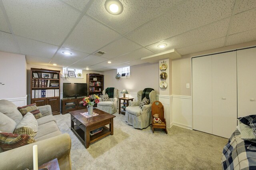
[(5, 132), (0, 133), (0, 147), (4, 151), (18, 148), (20, 146), (34, 142), (34, 138), (27, 134), (12, 134)]

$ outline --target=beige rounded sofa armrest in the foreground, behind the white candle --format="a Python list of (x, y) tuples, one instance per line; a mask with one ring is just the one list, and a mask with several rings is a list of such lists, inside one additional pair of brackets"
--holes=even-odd
[[(24, 170), (33, 168), (33, 145), (38, 147), (38, 166), (57, 158), (58, 161), (68, 156), (69, 162), (66, 167), (71, 169), (70, 148), (71, 139), (69, 134), (60, 134), (52, 138), (40, 140), (32, 144), (0, 153), (1, 170)], [(61, 161), (62, 162), (62, 161)], [(60, 164), (60, 162), (59, 162)], [(62, 165), (60, 165), (61, 167)], [(63, 166), (62, 166), (63, 167)], [(65, 168), (66, 169), (66, 168)]]

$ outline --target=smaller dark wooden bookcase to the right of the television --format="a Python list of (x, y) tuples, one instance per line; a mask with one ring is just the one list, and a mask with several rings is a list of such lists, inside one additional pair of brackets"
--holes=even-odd
[(87, 96), (102, 95), (104, 90), (104, 75), (97, 73), (86, 74)]

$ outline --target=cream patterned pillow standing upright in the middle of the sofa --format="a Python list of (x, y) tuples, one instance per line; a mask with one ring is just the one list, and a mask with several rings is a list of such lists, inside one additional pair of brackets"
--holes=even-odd
[(14, 129), (15, 134), (28, 134), (32, 138), (36, 136), (38, 131), (38, 123), (34, 115), (28, 112), (18, 123)]

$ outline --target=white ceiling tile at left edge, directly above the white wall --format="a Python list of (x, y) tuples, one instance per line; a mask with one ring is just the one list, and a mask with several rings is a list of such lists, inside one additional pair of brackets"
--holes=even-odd
[(12, 34), (0, 31), (0, 51), (20, 53), (18, 43)]

